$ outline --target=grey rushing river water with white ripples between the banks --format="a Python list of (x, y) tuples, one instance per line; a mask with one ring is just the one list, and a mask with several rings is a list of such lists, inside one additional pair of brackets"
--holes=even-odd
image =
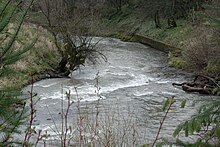
[[(175, 96), (176, 103), (160, 134), (160, 137), (174, 141), (172, 133), (176, 126), (196, 110), (192, 106), (193, 100), (206, 100), (209, 97), (188, 94), (173, 87), (172, 82), (186, 80), (185, 73), (169, 68), (166, 55), (162, 52), (139, 43), (122, 42), (112, 38), (95, 38), (94, 41), (99, 39), (102, 39), (98, 44), (99, 50), (106, 55), (108, 62), (100, 60), (97, 65), (81, 67), (72, 73), (71, 79), (48, 79), (34, 84), (34, 91), (38, 94), (37, 98), (40, 98), (36, 104), (36, 130), (47, 130), (54, 136), (53, 139), (56, 138), (62, 130), (62, 107), (67, 104), (65, 92), (71, 91), (71, 101), (75, 103), (70, 108), (68, 119), (73, 128), (78, 123), (79, 111), (81, 116), (91, 118), (91, 122), (82, 119), (85, 123), (83, 126), (89, 123), (94, 126), (98, 111), (100, 122), (97, 129), (102, 136), (110, 134), (111, 142), (116, 140), (112, 146), (152, 144), (164, 115), (161, 111), (162, 103), (167, 97)], [(98, 87), (101, 88), (98, 94), (95, 87), (97, 74)], [(29, 89), (30, 86), (24, 91)], [(79, 98), (80, 108), (77, 108)], [(98, 99), (100, 100), (97, 101)], [(187, 100), (185, 108), (180, 108), (182, 100)], [(91, 130), (90, 133), (87, 131), (90, 135)], [(108, 132), (104, 133), (106, 130)], [(86, 132), (83, 133), (86, 136)], [(107, 142), (106, 136), (103, 140)], [(181, 139), (185, 140), (184, 137)], [(193, 139), (188, 138), (187, 141)], [(97, 146), (102, 145), (99, 143)]]

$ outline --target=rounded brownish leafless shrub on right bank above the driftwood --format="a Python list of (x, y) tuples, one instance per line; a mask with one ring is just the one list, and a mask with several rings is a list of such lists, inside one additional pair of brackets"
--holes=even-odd
[(208, 36), (197, 38), (194, 45), (184, 52), (184, 58), (189, 70), (206, 72), (210, 75), (220, 71), (219, 36), (216, 39)]

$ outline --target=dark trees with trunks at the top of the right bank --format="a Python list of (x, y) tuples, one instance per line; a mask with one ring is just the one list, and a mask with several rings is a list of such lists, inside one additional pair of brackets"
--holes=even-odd
[(203, 0), (139, 0), (139, 11), (144, 12), (143, 18), (153, 18), (155, 26), (161, 28), (160, 19), (167, 19), (167, 27), (176, 27), (176, 19), (186, 19), (191, 10), (201, 10)]

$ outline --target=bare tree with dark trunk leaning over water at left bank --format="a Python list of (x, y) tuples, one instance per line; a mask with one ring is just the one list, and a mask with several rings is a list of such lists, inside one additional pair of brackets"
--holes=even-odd
[(84, 65), (85, 61), (95, 63), (98, 55), (105, 56), (96, 50), (92, 43), (93, 22), (96, 5), (92, 1), (78, 0), (42, 0), (37, 4), (47, 20), (47, 28), (54, 36), (61, 60), (55, 68), (56, 75), (68, 76), (71, 71)]

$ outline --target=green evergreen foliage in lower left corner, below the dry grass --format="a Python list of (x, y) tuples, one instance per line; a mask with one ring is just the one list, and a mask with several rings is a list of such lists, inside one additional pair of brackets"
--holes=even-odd
[(20, 90), (0, 91), (0, 146), (15, 143), (12, 135), (19, 133), (18, 127), (23, 123), (25, 103), (17, 98), (19, 95)]

